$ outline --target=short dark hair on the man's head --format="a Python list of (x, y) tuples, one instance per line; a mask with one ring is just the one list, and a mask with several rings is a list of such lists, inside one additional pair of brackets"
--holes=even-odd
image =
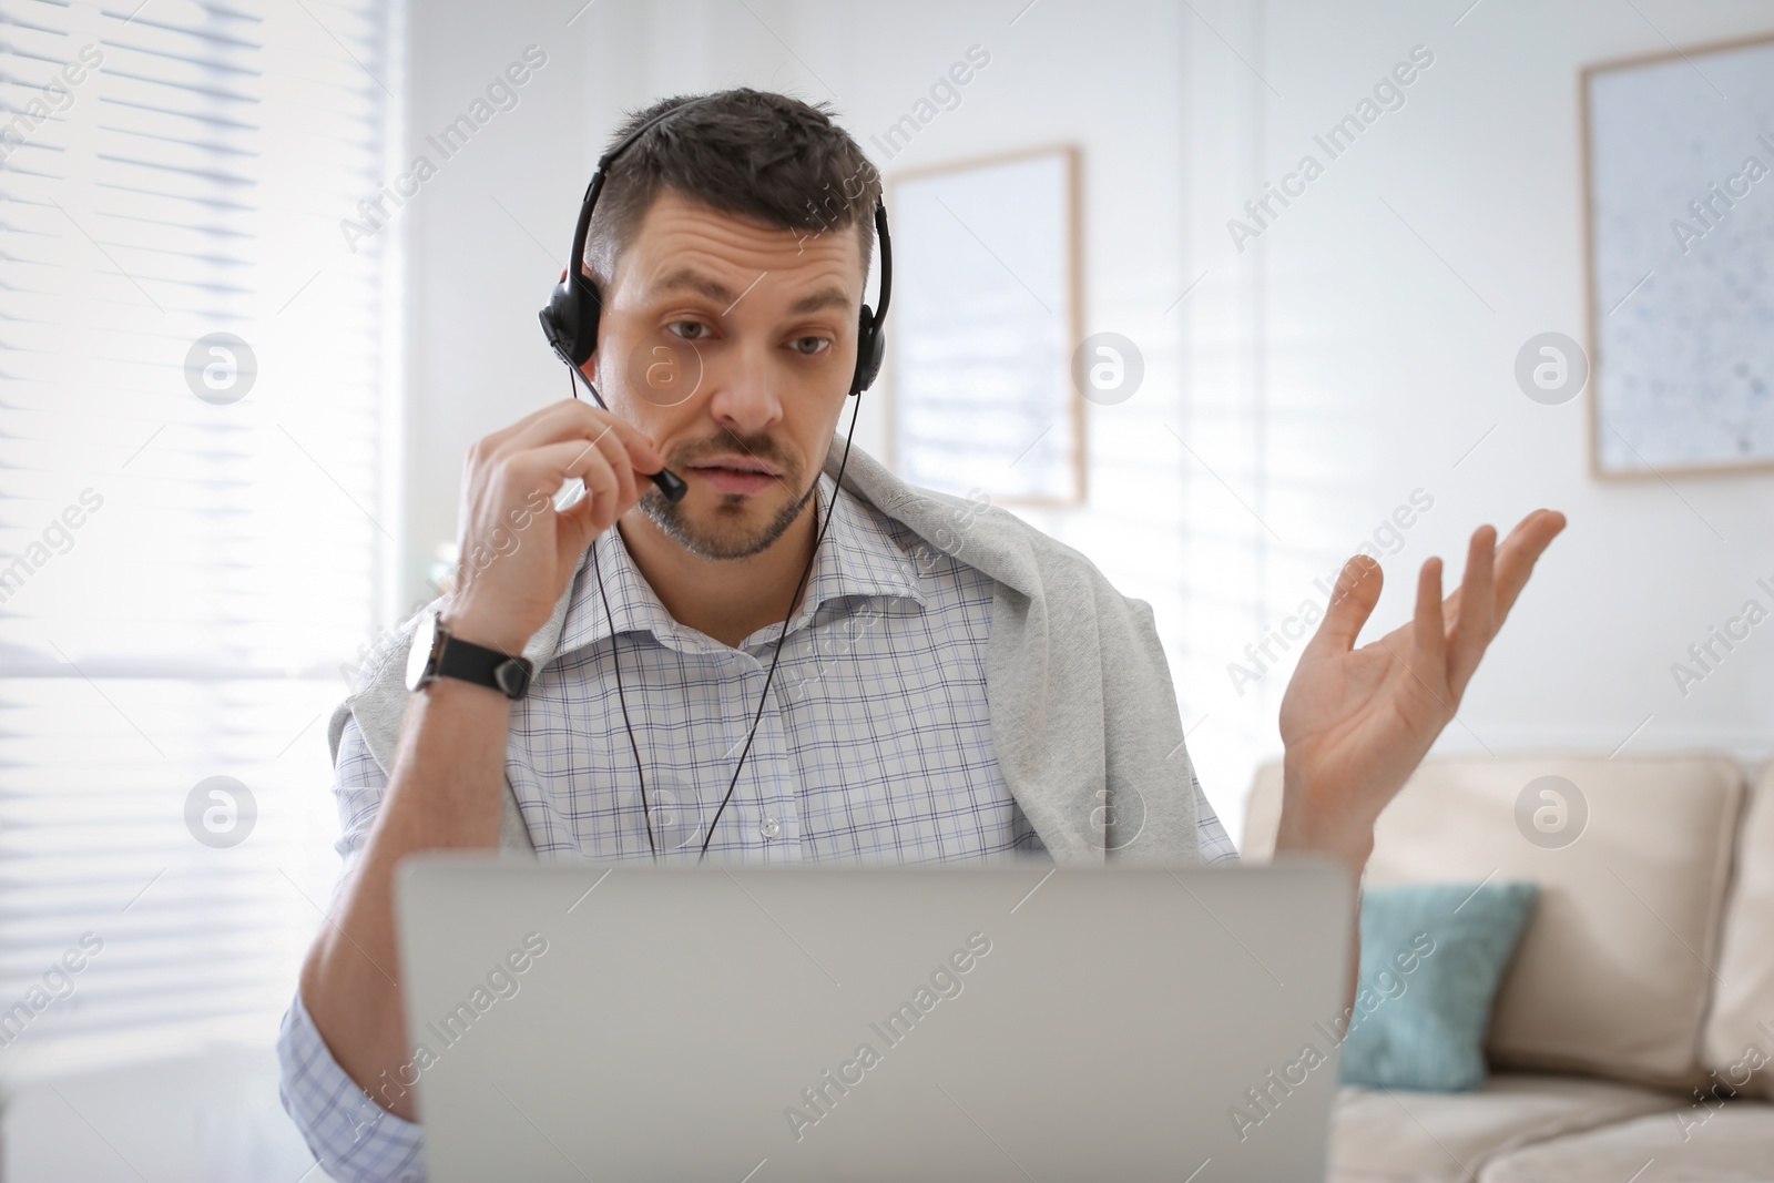
[(880, 172), (827, 103), (738, 87), (679, 94), (630, 112), (605, 151), (649, 119), (694, 103), (635, 140), (610, 165), (585, 236), (585, 266), (608, 294), (616, 261), (662, 190), (720, 213), (789, 231), (857, 227), (862, 277), (875, 248)]

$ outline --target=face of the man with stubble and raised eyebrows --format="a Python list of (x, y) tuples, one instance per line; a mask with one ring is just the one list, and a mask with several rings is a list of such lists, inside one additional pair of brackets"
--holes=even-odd
[(694, 553), (754, 555), (800, 514), (857, 362), (862, 243), (665, 190), (621, 252), (585, 364), (690, 491), (640, 509)]

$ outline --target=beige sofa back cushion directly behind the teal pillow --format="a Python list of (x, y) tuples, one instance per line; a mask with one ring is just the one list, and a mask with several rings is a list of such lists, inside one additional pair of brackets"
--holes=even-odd
[[(1561, 793), (1565, 844), (1536, 828), (1536, 811), (1559, 821), (1543, 777), (1575, 786)], [(1426, 761), (1380, 814), (1366, 883), (1540, 883), (1497, 990), (1492, 1066), (1692, 1085), (1742, 780), (1715, 756)], [(1274, 848), (1279, 812), (1268, 766), (1247, 858)]]

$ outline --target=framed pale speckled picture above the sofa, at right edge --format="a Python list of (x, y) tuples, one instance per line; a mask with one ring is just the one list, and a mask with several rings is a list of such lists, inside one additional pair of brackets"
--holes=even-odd
[(1591, 466), (1774, 466), (1774, 35), (1582, 73)]

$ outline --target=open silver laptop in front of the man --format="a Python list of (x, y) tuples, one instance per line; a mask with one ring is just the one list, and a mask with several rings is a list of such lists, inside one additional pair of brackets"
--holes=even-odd
[(397, 910), (436, 1183), (1323, 1178), (1329, 864), (426, 855)]

